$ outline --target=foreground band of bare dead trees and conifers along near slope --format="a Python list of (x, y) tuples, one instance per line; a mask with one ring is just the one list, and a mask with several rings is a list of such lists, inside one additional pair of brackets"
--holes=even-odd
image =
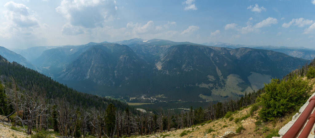
[(68, 137), (121, 137), (150, 135), (220, 119), (227, 112), (255, 103), (262, 91), (245, 94), (239, 100), (217, 102), (205, 108), (190, 108), (175, 114), (172, 110), (162, 108), (156, 113), (131, 112), (128, 106), (122, 110), (113, 104), (101, 108), (84, 108), (70, 104), (66, 98), (47, 99), (45, 90), (38, 86), (17, 91), (14, 87), (10, 89), (0, 85), (0, 105), (2, 113), (12, 111), (8, 116), (12, 125), (21, 126), (29, 135), (34, 130), (54, 129), (60, 136)]

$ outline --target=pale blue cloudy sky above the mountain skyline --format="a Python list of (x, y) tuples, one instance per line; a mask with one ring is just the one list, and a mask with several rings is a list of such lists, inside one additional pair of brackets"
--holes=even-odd
[(132, 38), (315, 48), (315, 0), (2, 0), (0, 46)]

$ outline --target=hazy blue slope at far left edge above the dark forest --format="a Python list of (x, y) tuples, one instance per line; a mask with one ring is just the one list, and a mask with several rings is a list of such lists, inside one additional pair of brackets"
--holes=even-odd
[(9, 62), (17, 62), (27, 68), (37, 70), (37, 68), (30, 63), (28, 60), (26, 60), (24, 57), (22, 57), (20, 54), (17, 54), (13, 51), (10, 51), (9, 49), (5, 47), (0, 47), (0, 55), (2, 55), (4, 58), (8, 59)]

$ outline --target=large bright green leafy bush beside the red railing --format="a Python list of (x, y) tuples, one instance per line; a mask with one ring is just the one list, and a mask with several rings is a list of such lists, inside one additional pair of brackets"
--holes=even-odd
[(294, 76), (287, 81), (272, 79), (264, 89), (259, 116), (262, 121), (269, 121), (300, 108), (310, 97), (312, 85), (308, 80)]

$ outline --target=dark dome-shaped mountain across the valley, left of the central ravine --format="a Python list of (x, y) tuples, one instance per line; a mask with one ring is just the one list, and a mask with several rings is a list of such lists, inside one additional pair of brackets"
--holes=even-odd
[(90, 47), (69, 64), (57, 79), (94, 94), (133, 95), (148, 89), (148, 74), (147, 62), (128, 46), (110, 44)]

